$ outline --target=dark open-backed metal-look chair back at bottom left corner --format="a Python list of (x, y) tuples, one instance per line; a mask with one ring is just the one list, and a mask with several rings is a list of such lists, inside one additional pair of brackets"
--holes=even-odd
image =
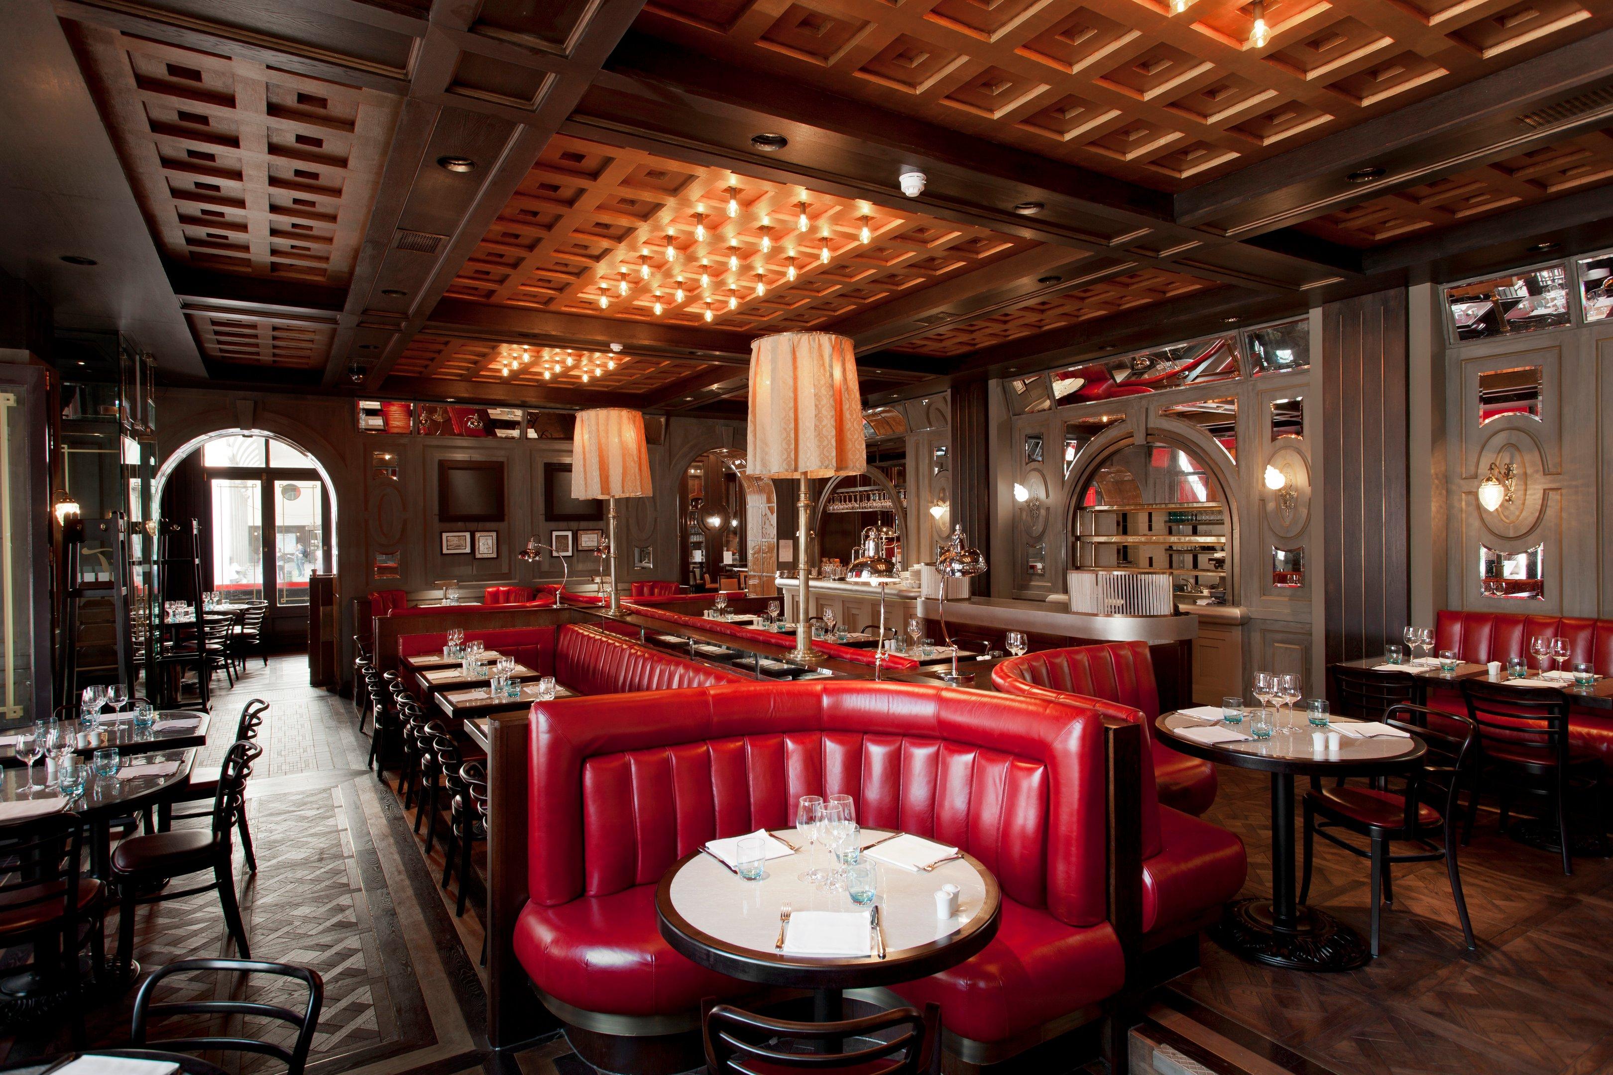
[[(174, 973), (195, 973), (198, 970), (221, 970), (226, 973), (247, 975), (263, 973), (277, 975), (282, 978), (295, 978), (308, 986), (308, 1004), (303, 1012), (297, 1012), (281, 1007), (279, 1004), (266, 1004), (261, 1001), (166, 1001), (160, 1004), (152, 1002), (152, 996), (156, 993), (156, 986), (168, 975)], [(185, 986), (185, 994), (190, 994), (192, 988)], [(231, 996), (237, 996), (240, 991), (229, 990)], [(308, 1049), (313, 1046), (315, 1030), (319, 1027), (319, 1009), (324, 1006), (324, 980), (316, 970), (306, 967), (292, 967), (290, 964), (269, 964), (258, 962), (255, 959), (182, 959), (176, 964), (168, 964), (166, 967), (158, 967), (152, 975), (140, 983), (140, 991), (134, 998), (134, 1020), (129, 1028), (129, 1036), (134, 1046), (139, 1049), (163, 1049), (166, 1052), (206, 1052), (206, 1051), (229, 1051), (229, 1052), (256, 1052), (261, 1056), (271, 1056), (276, 1060), (286, 1064), (286, 1075), (302, 1075), (303, 1069), (308, 1065)], [(197, 1027), (197, 1015), (218, 1015), (223, 1017), (226, 1027), (242, 1025), (240, 1017), (250, 1019), (268, 1019), (274, 1022), (289, 1023), (297, 1028), (297, 1038), (292, 1048), (287, 1049), (274, 1041), (265, 1041), (260, 1038), (245, 1036), (215, 1036), (215, 1035), (185, 1035), (182, 1038), (165, 1038), (161, 1041), (148, 1041), (147, 1023), (158, 1019), (187, 1017), (185, 1028)], [(205, 1023), (203, 1023), (205, 1025)]]

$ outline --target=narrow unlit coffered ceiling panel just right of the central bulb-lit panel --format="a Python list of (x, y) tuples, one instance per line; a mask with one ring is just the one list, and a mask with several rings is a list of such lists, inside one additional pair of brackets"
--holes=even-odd
[(890, 350), (952, 358), (994, 343), (1007, 343), (1023, 335), (1150, 306), (1208, 287), (1215, 287), (1215, 284), (1195, 276), (1166, 269), (1140, 269), (1074, 292), (1039, 298), (1034, 303), (1015, 306), (989, 318), (947, 326), (916, 340), (897, 343)]

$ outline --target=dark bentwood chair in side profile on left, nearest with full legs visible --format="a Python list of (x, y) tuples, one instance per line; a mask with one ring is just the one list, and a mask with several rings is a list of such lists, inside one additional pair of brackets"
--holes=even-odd
[[(235, 872), (232, 869), (231, 833), (245, 807), (244, 791), (252, 762), (263, 756), (256, 743), (235, 743), (224, 754), (218, 774), (218, 790), (213, 795), (213, 824), (208, 828), (174, 828), (169, 832), (131, 836), (111, 853), (111, 874), (123, 893), (118, 915), (118, 957), (127, 965), (134, 956), (134, 909), (139, 904), (182, 899), (210, 890), (218, 890), (224, 909), (224, 925), (235, 938), (242, 959), (250, 959), (247, 928), (235, 903)], [(206, 885), (169, 891), (163, 882), (171, 877), (213, 870)], [(142, 894), (150, 893), (150, 894)]]

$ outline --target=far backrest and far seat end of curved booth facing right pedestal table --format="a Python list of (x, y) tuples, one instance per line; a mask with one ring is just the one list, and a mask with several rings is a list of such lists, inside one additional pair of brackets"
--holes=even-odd
[[(1008, 658), (992, 669), (992, 685), (1007, 695), (1102, 698), (1142, 714), (1153, 757), (1160, 803), (1198, 816), (1215, 803), (1215, 766), (1179, 754), (1153, 737), (1160, 693), (1144, 641), (1108, 641), (1073, 650), (1042, 650)], [(1111, 714), (1119, 716), (1119, 714)]]

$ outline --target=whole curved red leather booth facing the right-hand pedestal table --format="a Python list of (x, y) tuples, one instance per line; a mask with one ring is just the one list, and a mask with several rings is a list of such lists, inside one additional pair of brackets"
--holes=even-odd
[[(994, 667), (992, 683), (1010, 695), (1084, 703), (1144, 727), (1153, 762), (1142, 774), (1144, 933), (1195, 928), (1237, 894), (1248, 869), (1244, 843), (1195, 817), (1215, 801), (1215, 766), (1153, 740), (1160, 698), (1147, 643), (1027, 653)], [(1173, 809), (1177, 804), (1182, 809)]]

